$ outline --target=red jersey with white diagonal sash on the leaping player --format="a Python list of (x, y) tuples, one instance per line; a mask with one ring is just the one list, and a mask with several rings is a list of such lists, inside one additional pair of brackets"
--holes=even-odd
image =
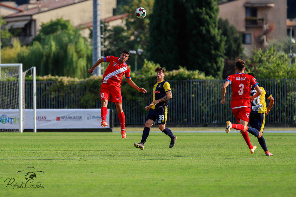
[(128, 65), (125, 62), (121, 64), (118, 57), (106, 56), (104, 61), (110, 64), (103, 75), (102, 84), (120, 87), (123, 74), (126, 78), (131, 77)]

